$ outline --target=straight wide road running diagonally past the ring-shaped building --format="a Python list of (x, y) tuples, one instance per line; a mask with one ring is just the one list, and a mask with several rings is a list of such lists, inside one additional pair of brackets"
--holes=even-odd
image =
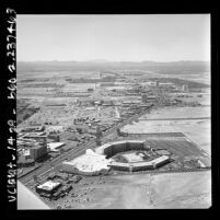
[[(120, 123), (116, 126), (114, 126), (113, 128), (106, 130), (104, 134), (103, 134), (103, 139), (106, 138), (108, 135), (113, 134), (116, 131), (117, 128), (121, 128), (123, 126), (125, 126), (126, 124), (128, 123), (131, 123), (134, 120), (137, 120), (140, 116), (144, 115), (146, 113), (148, 113), (152, 107), (141, 112), (140, 114), (137, 114), (137, 115), (134, 115), (131, 116), (130, 118), (128, 118), (126, 121), (124, 123)], [(83, 154), (85, 149), (88, 148), (92, 148), (92, 147), (95, 147), (96, 146), (96, 142), (95, 140), (92, 140), (92, 141), (89, 141), (88, 143), (85, 144), (80, 144), (78, 146), (78, 148), (76, 149), (71, 149), (70, 151), (68, 152), (65, 152), (62, 153), (61, 155), (59, 155), (58, 158), (54, 159), (53, 161), (50, 161), (50, 163), (53, 163), (53, 167), (49, 165), (49, 164), (46, 164), (46, 165), (43, 165), (40, 167), (38, 167), (37, 170), (22, 176), (20, 178), (20, 181), (23, 183), (23, 184), (28, 184), (30, 182), (33, 181), (33, 176), (34, 175), (37, 175), (38, 177), (47, 174), (48, 172), (50, 172), (51, 170), (56, 169), (57, 166), (59, 166), (61, 164), (61, 162), (63, 162), (65, 160), (69, 160), (69, 159), (73, 159), (76, 157), (79, 157), (80, 154)]]

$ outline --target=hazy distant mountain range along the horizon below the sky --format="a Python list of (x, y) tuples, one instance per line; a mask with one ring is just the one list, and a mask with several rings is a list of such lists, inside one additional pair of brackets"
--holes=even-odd
[(144, 70), (158, 73), (196, 73), (210, 71), (209, 61), (107, 61), (95, 59), (88, 61), (18, 61), (18, 72), (37, 71), (103, 71), (103, 70)]

